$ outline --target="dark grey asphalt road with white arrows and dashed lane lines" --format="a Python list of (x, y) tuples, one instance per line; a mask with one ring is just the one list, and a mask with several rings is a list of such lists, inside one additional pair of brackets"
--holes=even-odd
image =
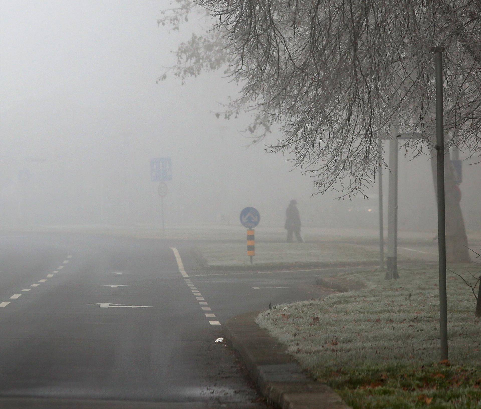
[(318, 271), (212, 273), (189, 243), (100, 236), (0, 236), (0, 271), (2, 408), (265, 408), (221, 324), (326, 294)]

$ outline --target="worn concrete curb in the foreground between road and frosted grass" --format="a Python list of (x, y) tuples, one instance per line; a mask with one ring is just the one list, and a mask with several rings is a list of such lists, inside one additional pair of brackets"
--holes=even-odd
[(285, 346), (259, 328), (258, 314), (238, 315), (223, 327), (267, 402), (281, 409), (350, 409), (329, 386), (310, 379)]

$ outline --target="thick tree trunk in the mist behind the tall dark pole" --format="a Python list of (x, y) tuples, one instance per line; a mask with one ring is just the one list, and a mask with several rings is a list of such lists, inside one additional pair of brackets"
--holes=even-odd
[[(431, 151), (434, 192), (437, 193), (436, 150)], [(461, 212), (461, 191), (455, 181), (454, 166), (447, 152), (444, 156), (444, 200), (446, 208), (446, 262), (469, 263), (468, 237)]]

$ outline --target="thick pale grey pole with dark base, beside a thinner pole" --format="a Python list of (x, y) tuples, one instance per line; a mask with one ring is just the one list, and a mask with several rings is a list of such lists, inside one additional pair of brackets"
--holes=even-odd
[(391, 131), (389, 141), (389, 196), (388, 196), (388, 254), (386, 279), (398, 279), (397, 273), (397, 169), (398, 142), (397, 128)]

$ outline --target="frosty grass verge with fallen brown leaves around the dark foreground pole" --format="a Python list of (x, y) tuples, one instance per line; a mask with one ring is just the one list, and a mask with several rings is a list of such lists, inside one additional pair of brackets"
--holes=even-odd
[[(451, 267), (467, 280), (466, 266)], [(479, 266), (469, 266), (479, 276)], [(481, 405), (480, 320), (471, 289), (448, 271), (450, 364), (439, 361), (435, 266), (346, 273), (367, 288), (279, 305), (257, 323), (287, 345), (304, 368), (354, 408), (474, 408)]]

